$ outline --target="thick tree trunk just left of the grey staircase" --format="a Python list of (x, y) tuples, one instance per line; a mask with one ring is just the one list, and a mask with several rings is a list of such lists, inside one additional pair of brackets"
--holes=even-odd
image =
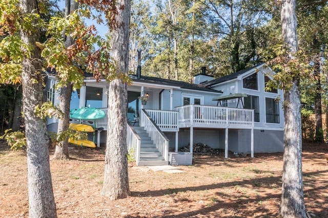
[[(118, 73), (128, 73), (130, 0), (116, 1), (118, 23), (112, 29), (113, 59)], [(108, 92), (108, 131), (105, 175), (101, 194), (111, 200), (127, 198), (130, 194), (127, 150), (127, 84), (114, 79)]]

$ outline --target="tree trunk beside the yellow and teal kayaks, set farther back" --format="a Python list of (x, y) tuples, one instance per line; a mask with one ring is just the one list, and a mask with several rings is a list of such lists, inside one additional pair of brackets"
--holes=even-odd
[[(72, 14), (77, 9), (78, 3), (75, 0), (66, 0), (65, 4), (65, 16)], [(73, 45), (74, 41), (71, 36), (66, 36), (65, 31), (63, 32), (63, 38), (65, 40), (65, 47)], [(68, 81), (65, 86), (61, 87), (59, 95), (59, 108), (64, 113), (63, 118), (58, 120), (58, 130), (57, 134), (65, 132), (69, 128), (70, 124), (70, 104), (71, 104), (71, 95), (72, 95), (73, 84)], [(68, 138), (64, 141), (59, 142), (56, 145), (55, 153), (52, 156), (53, 160), (67, 160), (69, 159), (68, 152)]]

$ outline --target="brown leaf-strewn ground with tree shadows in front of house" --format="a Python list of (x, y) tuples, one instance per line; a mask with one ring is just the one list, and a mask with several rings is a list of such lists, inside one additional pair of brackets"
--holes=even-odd
[[(53, 149), (50, 150), (53, 154)], [(70, 147), (71, 160), (51, 161), (58, 217), (276, 217), (282, 153), (224, 159), (194, 154), (183, 173), (129, 166), (131, 196), (100, 196), (105, 148)], [(328, 217), (328, 146), (303, 145), (305, 207)], [(24, 151), (0, 141), (0, 217), (28, 217)]]

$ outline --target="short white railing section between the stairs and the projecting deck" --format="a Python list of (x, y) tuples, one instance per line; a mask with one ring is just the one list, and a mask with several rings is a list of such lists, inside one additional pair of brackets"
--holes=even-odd
[(146, 112), (162, 132), (177, 132), (179, 130), (177, 111), (146, 109)]

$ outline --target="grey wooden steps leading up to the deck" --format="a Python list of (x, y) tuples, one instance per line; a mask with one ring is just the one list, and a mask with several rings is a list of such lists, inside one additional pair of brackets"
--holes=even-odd
[(141, 139), (139, 166), (169, 165), (168, 161), (161, 156), (153, 140), (149, 137), (144, 127), (133, 126), (135, 132)]

